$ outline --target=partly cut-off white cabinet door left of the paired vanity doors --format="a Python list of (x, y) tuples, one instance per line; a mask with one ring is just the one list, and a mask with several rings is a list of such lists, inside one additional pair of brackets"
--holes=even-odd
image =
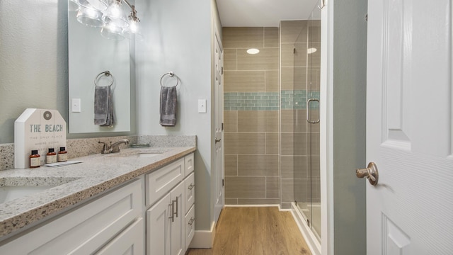
[(117, 235), (112, 241), (103, 247), (96, 255), (122, 254), (142, 255), (143, 254), (143, 218), (139, 218), (132, 225)]

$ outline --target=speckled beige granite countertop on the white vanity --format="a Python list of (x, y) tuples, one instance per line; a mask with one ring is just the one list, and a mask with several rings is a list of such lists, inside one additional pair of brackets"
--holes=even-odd
[[(71, 159), (81, 161), (79, 164), (0, 171), (0, 187), (55, 186), (1, 203), (0, 239), (194, 151), (195, 147), (121, 149), (115, 154), (94, 154)], [(153, 157), (127, 157), (155, 152), (160, 154)]]

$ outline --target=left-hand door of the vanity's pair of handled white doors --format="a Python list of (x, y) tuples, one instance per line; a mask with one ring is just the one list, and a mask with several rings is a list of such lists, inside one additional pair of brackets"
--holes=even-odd
[(171, 193), (147, 210), (147, 254), (171, 255)]

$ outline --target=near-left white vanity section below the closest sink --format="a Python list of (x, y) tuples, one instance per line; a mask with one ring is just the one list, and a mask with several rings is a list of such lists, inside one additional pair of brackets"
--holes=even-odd
[(134, 240), (124, 251), (143, 254), (141, 217), (142, 181), (136, 179), (0, 246), (0, 254), (93, 254), (122, 244), (130, 233)]

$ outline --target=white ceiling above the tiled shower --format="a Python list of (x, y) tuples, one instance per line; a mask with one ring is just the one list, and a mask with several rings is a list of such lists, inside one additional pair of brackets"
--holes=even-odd
[(279, 21), (307, 19), (318, 2), (318, 0), (216, 1), (223, 27), (278, 26)]

